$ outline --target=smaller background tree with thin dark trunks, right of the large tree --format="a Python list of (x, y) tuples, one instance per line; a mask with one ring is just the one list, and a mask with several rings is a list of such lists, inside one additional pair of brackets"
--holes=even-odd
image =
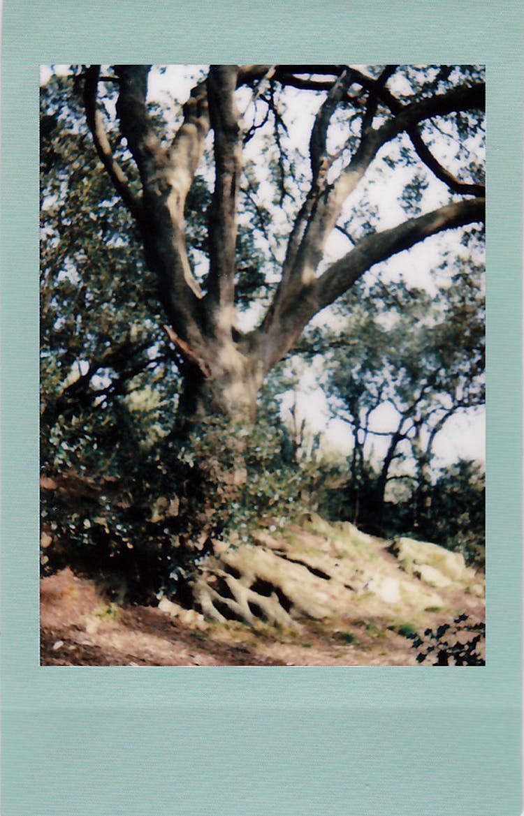
[(433, 292), (373, 282), (344, 304), (326, 390), (352, 437), (345, 512), (358, 521), (362, 505), (362, 523), (377, 533), (394, 480), (411, 494), (410, 528), (431, 527), (435, 441), (448, 420), (484, 404), (484, 272), (475, 255), (464, 247)]

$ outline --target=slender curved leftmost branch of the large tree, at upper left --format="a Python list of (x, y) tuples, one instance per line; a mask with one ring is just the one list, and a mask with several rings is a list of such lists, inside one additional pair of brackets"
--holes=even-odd
[(84, 82), (84, 105), (86, 108), (87, 126), (91, 131), (96, 153), (104, 165), (104, 169), (113, 182), (113, 186), (122, 201), (140, 223), (143, 215), (142, 202), (131, 193), (126, 174), (122, 171), (118, 162), (113, 156), (108, 136), (104, 130), (104, 122), (100, 111), (96, 108), (96, 91), (100, 81), (100, 65), (90, 65), (86, 69)]

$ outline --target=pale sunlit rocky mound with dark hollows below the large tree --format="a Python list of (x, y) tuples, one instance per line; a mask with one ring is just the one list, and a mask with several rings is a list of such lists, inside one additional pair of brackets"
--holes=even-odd
[(288, 628), (356, 610), (392, 620), (449, 605), (464, 611), (457, 593), (465, 609), (468, 595), (484, 594), (482, 577), (459, 553), (415, 539), (392, 544), (320, 517), (260, 531), (249, 544), (215, 542), (193, 582), (195, 608), (206, 619)]

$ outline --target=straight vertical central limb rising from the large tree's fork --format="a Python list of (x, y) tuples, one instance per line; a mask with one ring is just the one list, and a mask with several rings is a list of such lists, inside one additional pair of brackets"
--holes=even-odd
[(215, 134), (215, 189), (209, 221), (210, 271), (206, 302), (211, 322), (220, 330), (233, 324), (237, 204), (242, 165), (241, 131), (234, 100), (238, 69), (234, 65), (211, 66), (207, 99)]

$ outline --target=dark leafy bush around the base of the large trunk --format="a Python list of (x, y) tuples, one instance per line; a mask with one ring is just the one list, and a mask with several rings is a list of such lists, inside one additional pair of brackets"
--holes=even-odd
[(282, 525), (310, 509), (321, 490), (322, 468), (290, 456), (274, 416), (252, 428), (211, 416), (140, 446), (127, 414), (101, 450), (61, 447), (57, 487), (42, 492), (42, 529), (58, 543), (46, 548), (44, 571), (69, 564), (118, 575), (133, 599), (167, 590), (183, 600), (213, 539), (244, 543), (260, 523)]

